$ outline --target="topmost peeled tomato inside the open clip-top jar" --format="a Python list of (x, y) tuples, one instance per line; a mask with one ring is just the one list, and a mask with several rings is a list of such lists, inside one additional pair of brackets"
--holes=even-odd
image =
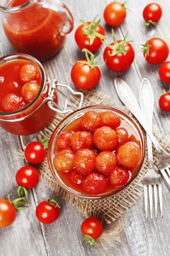
[(20, 70), (20, 79), (23, 83), (35, 80), (38, 76), (37, 67), (33, 63), (23, 65)]

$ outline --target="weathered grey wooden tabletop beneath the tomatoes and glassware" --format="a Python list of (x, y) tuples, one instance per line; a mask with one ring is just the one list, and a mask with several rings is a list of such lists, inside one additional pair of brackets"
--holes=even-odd
[[(103, 20), (103, 11), (107, 0), (63, 0), (74, 16), (74, 31), (67, 36), (62, 50), (48, 61), (43, 62), (51, 79), (57, 77), (60, 83), (68, 84), (74, 88), (71, 82), (70, 72), (72, 65), (84, 54), (79, 50), (74, 41), (74, 32), (79, 26), (79, 18), (92, 20), (98, 13), (102, 17), (101, 24), (104, 26), (111, 42), (111, 27), (106, 26)], [(150, 26), (147, 38), (163, 38), (170, 47), (170, 1), (156, 0), (163, 9), (161, 21), (156, 27)], [(149, 0), (128, 0), (127, 17), (125, 23), (114, 29), (116, 38), (122, 39), (129, 31), (128, 38), (133, 39), (136, 57), (133, 65), (124, 73), (119, 74), (127, 81), (136, 97), (139, 96), (140, 81), (147, 77), (152, 84), (155, 96), (154, 125), (161, 133), (169, 134), (170, 114), (159, 109), (158, 100), (163, 89), (168, 85), (159, 79), (159, 66), (148, 64), (140, 53), (139, 44), (146, 42), (142, 11)], [(104, 46), (99, 50), (102, 54)], [(9, 45), (2, 26), (0, 27), (0, 55), (14, 52)], [(170, 60), (170, 58), (169, 58)], [(101, 64), (103, 62), (101, 58)], [(113, 85), (113, 79), (118, 74), (102, 68), (102, 78), (96, 89), (111, 95), (116, 105), (122, 106)], [(28, 142), (36, 135), (28, 136)], [(0, 129), (0, 198), (6, 198), (8, 192), (15, 193), (15, 173), (24, 165), (23, 160), (14, 157), (15, 150), (21, 147), (20, 138)], [(40, 181), (35, 189), (29, 192), (30, 207), (27, 210), (17, 212), (17, 218), (11, 227), (0, 229), (0, 256), (169, 256), (169, 233), (170, 233), (170, 187), (162, 180), (163, 193), (163, 218), (151, 219), (144, 216), (144, 199), (140, 198), (122, 218), (118, 219), (106, 229), (110, 230), (99, 246), (81, 245), (80, 226), (84, 217), (77, 212), (74, 206), (69, 205), (57, 198), (61, 206), (58, 220), (50, 225), (43, 225), (35, 217), (37, 203), (45, 200), (46, 195), (56, 198), (51, 189)], [(159, 211), (158, 211), (159, 212)]]

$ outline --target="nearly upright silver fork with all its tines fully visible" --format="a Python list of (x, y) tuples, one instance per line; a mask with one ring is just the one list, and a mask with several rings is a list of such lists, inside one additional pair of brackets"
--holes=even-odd
[[(153, 90), (148, 79), (144, 78), (141, 82), (141, 88), (139, 92), (139, 103), (142, 114), (147, 122), (147, 126), (152, 131), (152, 119), (153, 119), (153, 105), (154, 105), (154, 96)], [(143, 177), (144, 184), (144, 208), (145, 215), (147, 218), (147, 186), (149, 189), (149, 204), (150, 204), (150, 216), (152, 218), (152, 185), (154, 191), (154, 202), (155, 202), (155, 215), (157, 218), (157, 185), (159, 192), (159, 204), (161, 209), (161, 218), (162, 218), (162, 189), (161, 189), (161, 175), (159, 175), (154, 169), (153, 164), (153, 152), (152, 152), (152, 141), (147, 135), (147, 150), (148, 150), (148, 161), (149, 168), (146, 175)]]

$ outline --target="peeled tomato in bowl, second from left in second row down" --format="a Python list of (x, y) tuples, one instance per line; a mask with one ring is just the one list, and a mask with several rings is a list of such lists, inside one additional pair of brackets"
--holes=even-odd
[(77, 131), (71, 138), (71, 148), (76, 152), (82, 148), (92, 148), (93, 137), (89, 131)]

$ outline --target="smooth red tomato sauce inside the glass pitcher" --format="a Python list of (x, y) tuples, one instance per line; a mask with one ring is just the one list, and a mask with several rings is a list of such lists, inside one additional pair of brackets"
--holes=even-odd
[[(13, 0), (8, 7), (16, 7), (27, 0)], [(56, 54), (65, 41), (59, 32), (64, 23), (60, 13), (39, 6), (39, 1), (27, 9), (3, 19), (3, 27), (12, 47), (42, 60)]]

